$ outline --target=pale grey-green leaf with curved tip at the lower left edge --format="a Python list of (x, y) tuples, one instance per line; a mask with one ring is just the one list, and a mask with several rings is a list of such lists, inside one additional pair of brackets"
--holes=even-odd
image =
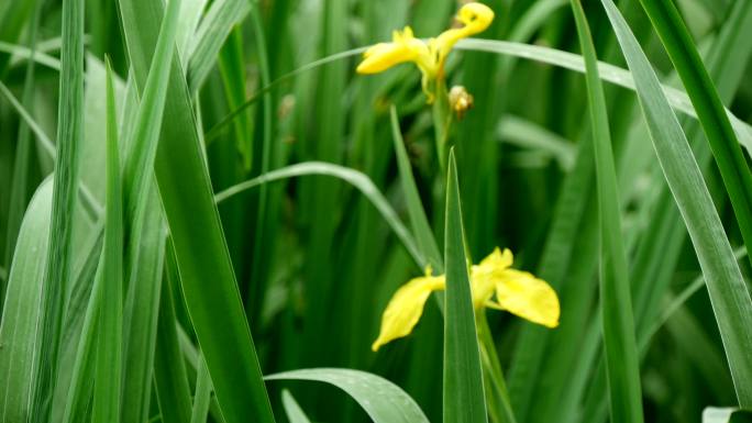
[(21, 223), (0, 321), (0, 421), (30, 416), (33, 366), (38, 355), (38, 320), (47, 260), (52, 179), (37, 188)]

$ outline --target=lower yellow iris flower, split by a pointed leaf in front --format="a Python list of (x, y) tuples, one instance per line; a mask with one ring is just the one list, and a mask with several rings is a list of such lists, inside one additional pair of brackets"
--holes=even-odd
[[(471, 268), (473, 305), (476, 310), (483, 307), (507, 310), (533, 323), (556, 327), (560, 314), (556, 292), (532, 274), (512, 269), (512, 260), (509, 249), (502, 253), (496, 248)], [(409, 335), (423, 314), (431, 292), (445, 288), (444, 275), (432, 276), (430, 267), (425, 269), (425, 276), (411, 279), (399, 288), (384, 311), (381, 331), (372, 349), (375, 352), (384, 344)]]

